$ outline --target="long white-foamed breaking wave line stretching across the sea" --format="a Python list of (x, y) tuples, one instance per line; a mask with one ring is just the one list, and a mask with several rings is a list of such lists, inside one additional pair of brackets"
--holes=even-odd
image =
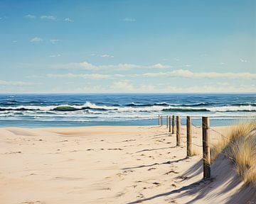
[[(107, 111), (114, 112), (256, 112), (256, 106), (213, 106), (209, 103), (193, 103), (169, 105), (167, 103), (137, 104), (129, 103), (124, 106), (99, 106), (95, 103), (86, 102), (82, 105), (63, 104), (57, 106), (0, 106), (0, 111), (43, 111), (47, 113), (75, 112), (75, 111), (96, 111), (100, 113)], [(199, 106), (199, 107), (197, 107)], [(92, 112), (91, 112), (92, 113)]]

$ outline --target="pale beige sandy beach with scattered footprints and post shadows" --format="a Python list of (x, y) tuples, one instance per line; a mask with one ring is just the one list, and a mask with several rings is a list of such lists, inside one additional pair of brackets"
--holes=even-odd
[(0, 203), (256, 203), (225, 157), (202, 180), (200, 128), (198, 155), (186, 157), (185, 127), (181, 139), (166, 126), (0, 128)]

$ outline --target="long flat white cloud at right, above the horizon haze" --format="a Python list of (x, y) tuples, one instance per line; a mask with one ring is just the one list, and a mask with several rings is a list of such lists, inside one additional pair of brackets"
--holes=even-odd
[(149, 72), (142, 74), (143, 77), (184, 77), (191, 79), (201, 78), (225, 78), (225, 79), (256, 79), (255, 73), (250, 72), (191, 72), (190, 70), (177, 69), (171, 72)]

